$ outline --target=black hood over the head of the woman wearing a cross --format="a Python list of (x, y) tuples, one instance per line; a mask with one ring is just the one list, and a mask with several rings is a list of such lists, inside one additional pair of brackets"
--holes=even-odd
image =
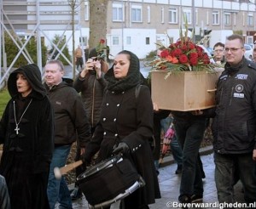
[(38, 68), (38, 65), (35, 64), (23, 65), (9, 75), (8, 90), (12, 98), (15, 98), (19, 95), (16, 85), (17, 73), (22, 73), (24, 76), (26, 76), (27, 82), (29, 82), (32, 87), (32, 94), (34, 97), (37, 97), (38, 99), (44, 98), (46, 95), (46, 90), (42, 83), (41, 72)]

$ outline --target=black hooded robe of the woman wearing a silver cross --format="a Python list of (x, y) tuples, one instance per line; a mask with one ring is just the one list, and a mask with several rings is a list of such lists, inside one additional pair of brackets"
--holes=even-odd
[[(18, 72), (26, 76), (32, 86), (32, 93), (26, 98), (21, 98), (16, 88)], [(0, 143), (3, 144), (0, 173), (8, 185), (12, 209), (49, 208), (46, 189), (54, 147), (54, 116), (38, 66), (26, 65), (12, 72), (8, 88), (12, 99), (0, 124)], [(14, 107), (16, 121), (20, 121), (18, 134)]]

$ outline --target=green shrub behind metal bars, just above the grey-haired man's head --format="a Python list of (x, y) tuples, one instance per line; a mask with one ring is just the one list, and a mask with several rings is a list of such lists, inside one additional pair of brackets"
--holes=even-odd
[[(54, 40), (52, 41), (59, 49), (61, 49), (65, 43), (66, 43), (66, 40), (65, 39), (62, 39), (61, 40), (61, 37), (59, 35), (55, 35), (54, 37)], [(59, 43), (59, 44), (58, 44)], [(52, 47), (50, 50), (49, 50), (49, 54), (51, 54), (53, 51), (55, 50), (55, 53), (52, 57), (52, 59), (55, 59), (55, 57), (59, 54), (59, 52), (54, 48)], [(68, 60), (71, 61), (71, 56), (70, 54), (68, 53), (68, 48), (67, 46), (62, 50), (62, 53), (65, 54), (65, 56), (67, 57)], [(59, 60), (61, 60), (61, 62), (63, 63), (63, 65), (68, 65), (67, 63), (67, 60), (64, 59), (64, 57), (62, 55), (60, 55), (58, 57)], [(71, 61), (72, 62), (72, 61)]]

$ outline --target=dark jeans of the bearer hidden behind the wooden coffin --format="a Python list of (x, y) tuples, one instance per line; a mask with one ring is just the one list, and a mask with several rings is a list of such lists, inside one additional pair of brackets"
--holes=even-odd
[(197, 161), (207, 120), (200, 117), (174, 118), (177, 140), (183, 150), (180, 196), (203, 195), (201, 168)]

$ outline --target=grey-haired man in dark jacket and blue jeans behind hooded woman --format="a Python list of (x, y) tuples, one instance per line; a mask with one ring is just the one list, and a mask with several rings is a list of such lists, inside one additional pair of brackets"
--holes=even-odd
[[(48, 198), (50, 209), (59, 201), (60, 208), (72, 209), (67, 183), (62, 177), (55, 179), (54, 168), (66, 164), (71, 146), (79, 141), (81, 154), (90, 141), (90, 124), (83, 101), (72, 83), (62, 80), (64, 66), (59, 60), (50, 60), (44, 67), (45, 88), (55, 111), (55, 150), (49, 170)], [(78, 138), (78, 139), (77, 139)]]

